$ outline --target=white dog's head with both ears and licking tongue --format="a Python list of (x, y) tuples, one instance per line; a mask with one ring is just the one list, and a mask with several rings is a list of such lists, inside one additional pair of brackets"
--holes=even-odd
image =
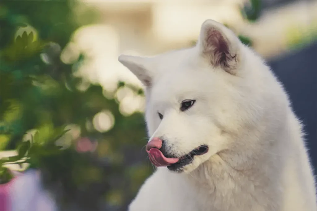
[(262, 60), (216, 21), (203, 23), (193, 48), (119, 61), (146, 86), (146, 150), (156, 166), (191, 172), (237, 146), (263, 117), (269, 71), (260, 71), (267, 68)]

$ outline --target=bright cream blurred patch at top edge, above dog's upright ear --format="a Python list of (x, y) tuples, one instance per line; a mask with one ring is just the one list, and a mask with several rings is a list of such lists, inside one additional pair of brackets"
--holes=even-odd
[(197, 38), (206, 19), (231, 24), (242, 21), (240, 11), (232, 3), (161, 3), (153, 10), (153, 34), (167, 42), (188, 42)]

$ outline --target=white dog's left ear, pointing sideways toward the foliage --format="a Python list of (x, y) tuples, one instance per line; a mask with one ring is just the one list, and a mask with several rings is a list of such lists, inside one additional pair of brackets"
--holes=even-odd
[(126, 66), (147, 87), (152, 85), (153, 74), (150, 58), (120, 55), (118, 60)]

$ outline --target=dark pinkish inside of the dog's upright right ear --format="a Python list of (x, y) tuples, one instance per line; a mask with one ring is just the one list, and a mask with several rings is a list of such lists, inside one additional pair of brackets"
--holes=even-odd
[(228, 42), (218, 29), (207, 29), (204, 54), (209, 55), (212, 65), (230, 68), (229, 63), (235, 59), (236, 55), (232, 56), (230, 54)]

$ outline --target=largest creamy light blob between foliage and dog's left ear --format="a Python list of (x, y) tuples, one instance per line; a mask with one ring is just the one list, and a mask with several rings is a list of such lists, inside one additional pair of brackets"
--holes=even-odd
[[(86, 60), (77, 76), (88, 78), (93, 83), (100, 83), (106, 92), (117, 89), (122, 74), (117, 56), (119, 54), (119, 35), (111, 25), (95, 24), (82, 27), (74, 33), (73, 42), (85, 52)], [(119, 71), (118, 71), (119, 70)], [(124, 69), (127, 73), (128, 70)]]

